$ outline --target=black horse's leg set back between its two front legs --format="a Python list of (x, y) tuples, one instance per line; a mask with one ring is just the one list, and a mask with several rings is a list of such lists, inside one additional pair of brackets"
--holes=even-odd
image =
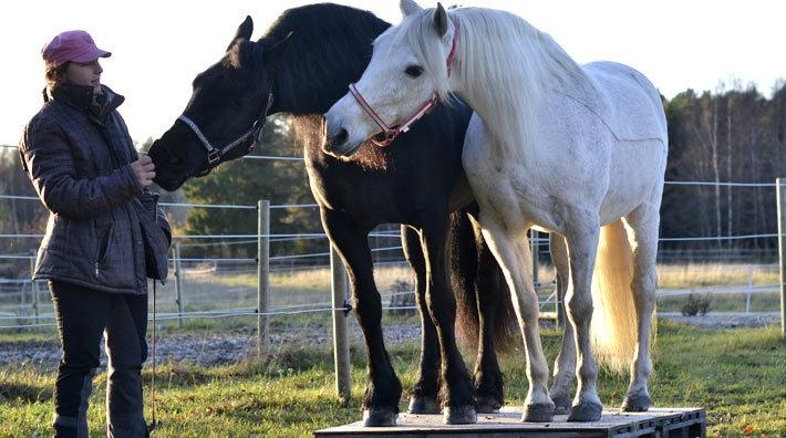
[(426, 306), (426, 261), (423, 258), (421, 237), (408, 226), (401, 227), (402, 243), (406, 261), (415, 271), (415, 300), (421, 314), (421, 372), (410, 397), (408, 411), (412, 414), (438, 414), (439, 405), (439, 345), (436, 327)]

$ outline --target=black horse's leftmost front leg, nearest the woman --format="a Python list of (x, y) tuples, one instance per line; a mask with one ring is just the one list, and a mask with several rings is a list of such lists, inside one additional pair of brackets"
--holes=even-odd
[(382, 302), (374, 283), (368, 230), (345, 213), (324, 208), (320, 213), (322, 226), (347, 267), (352, 305), (365, 338), (369, 383), (363, 399), (364, 425), (393, 426), (399, 415), (401, 382), (382, 337)]

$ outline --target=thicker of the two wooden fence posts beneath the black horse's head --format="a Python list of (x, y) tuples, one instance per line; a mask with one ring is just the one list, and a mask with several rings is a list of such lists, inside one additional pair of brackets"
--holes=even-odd
[(268, 348), (270, 321), (270, 201), (257, 204), (257, 357), (262, 358)]

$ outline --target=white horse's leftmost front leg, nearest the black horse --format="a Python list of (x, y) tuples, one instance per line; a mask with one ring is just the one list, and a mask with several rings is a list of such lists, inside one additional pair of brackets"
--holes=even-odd
[(494, 257), (503, 267), (524, 336), (529, 392), (521, 419), (524, 421), (551, 421), (555, 405), (547, 389), (548, 364), (540, 344), (538, 326), (540, 310), (532, 284), (532, 263), (526, 229), (510, 227), (509, 223), (499, 223), (498, 218), (485, 215), (484, 211), (480, 211), (480, 225)]

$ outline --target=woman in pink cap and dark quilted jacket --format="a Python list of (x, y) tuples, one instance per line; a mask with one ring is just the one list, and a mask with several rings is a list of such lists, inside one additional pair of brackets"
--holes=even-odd
[(106, 336), (107, 435), (147, 434), (142, 364), (147, 357), (147, 279), (164, 280), (169, 226), (146, 187), (124, 97), (101, 84), (99, 49), (84, 31), (56, 35), (42, 51), (44, 105), (19, 145), (22, 165), (49, 209), (35, 279), (48, 279), (63, 356), (54, 388), (54, 435), (87, 436), (87, 399)]

